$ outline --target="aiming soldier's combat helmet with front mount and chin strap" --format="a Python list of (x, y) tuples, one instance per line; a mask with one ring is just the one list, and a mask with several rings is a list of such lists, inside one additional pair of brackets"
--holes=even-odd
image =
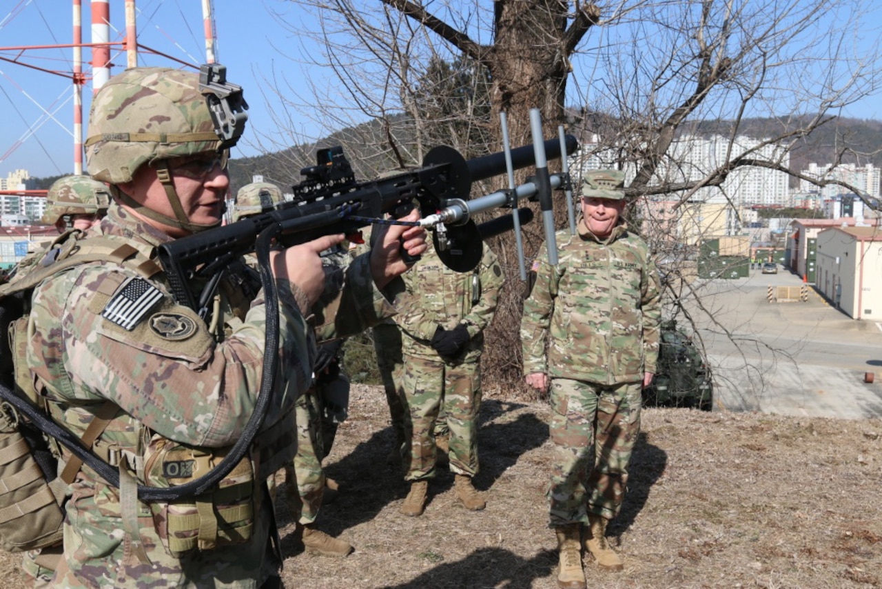
[[(123, 204), (154, 221), (190, 231), (212, 227), (215, 223), (187, 219), (168, 159), (213, 153), (226, 167), (228, 149), (242, 135), (247, 108), (242, 89), (227, 83), (222, 65), (204, 65), (200, 74), (165, 67), (126, 70), (93, 98), (86, 139), (89, 173), (112, 185)], [(175, 218), (143, 207), (116, 188), (145, 164), (156, 168)]]

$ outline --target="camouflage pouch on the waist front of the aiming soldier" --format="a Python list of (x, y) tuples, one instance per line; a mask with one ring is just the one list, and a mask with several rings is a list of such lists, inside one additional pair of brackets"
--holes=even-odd
[[(175, 487), (221, 463), (228, 449), (200, 449), (154, 434), (144, 455), (145, 484)], [(254, 471), (245, 457), (211, 492), (176, 502), (152, 502), (156, 532), (168, 555), (212, 550), (250, 540), (254, 527)]]

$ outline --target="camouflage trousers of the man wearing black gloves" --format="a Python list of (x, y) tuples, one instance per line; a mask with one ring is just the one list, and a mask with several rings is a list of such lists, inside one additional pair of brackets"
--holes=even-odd
[(450, 470), (474, 477), (478, 472), (477, 419), (481, 409), (479, 363), (452, 365), (440, 359), (406, 356), (403, 374), (405, 480), (435, 476), (435, 427), (442, 410), (450, 430)]

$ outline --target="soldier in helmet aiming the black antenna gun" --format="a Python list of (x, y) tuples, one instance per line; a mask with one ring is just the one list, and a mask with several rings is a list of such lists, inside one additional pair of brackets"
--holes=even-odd
[[(325, 285), (318, 253), (342, 236), (272, 253), (279, 348), (266, 353), (279, 354), (285, 373), (243, 460), (198, 498), (141, 502), (133, 487), (176, 486), (210, 470), (243, 435), (263, 376), (263, 291), (249, 299), (235, 276), (225, 275), (206, 325), (176, 304), (152, 261), (157, 245), (221, 222), (228, 143), (215, 131), (198, 81), (190, 72), (132, 68), (95, 95), (86, 157), (114, 203), (80, 247), (112, 252), (34, 290), (33, 335), (17, 361), (25, 362), (52, 419), (73, 434), (106, 417), (92, 449), (117, 465), (123, 482), (111, 487), (87, 466), (75, 472), (56, 585), (280, 585), (265, 480), (281, 465), (274, 457), (293, 456), (284, 430), (310, 385), (315, 353), (304, 315)], [(407, 268), (401, 240), (408, 253), (424, 250), (420, 231), (390, 229), (370, 259), (350, 266), (336, 301), (346, 313), (329, 308), (316, 328), (347, 335), (392, 313), (379, 289)], [(63, 462), (69, 458), (64, 450)]]

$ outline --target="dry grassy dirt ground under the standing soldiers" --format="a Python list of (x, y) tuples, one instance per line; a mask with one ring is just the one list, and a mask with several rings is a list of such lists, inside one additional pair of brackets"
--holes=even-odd
[[(464, 510), (452, 474), (430, 484), (422, 517), (385, 464), (392, 444), (382, 389), (355, 385), (326, 462), (340, 483), (318, 527), (355, 546), (310, 555), (280, 503), (288, 587), (556, 587), (546, 527), (551, 447), (542, 402), (485, 395), (480, 430), (487, 509)], [(609, 540), (625, 569), (585, 558), (588, 586), (882, 587), (882, 420), (646, 409), (622, 513)], [(0, 555), (17, 586), (17, 555)]]

